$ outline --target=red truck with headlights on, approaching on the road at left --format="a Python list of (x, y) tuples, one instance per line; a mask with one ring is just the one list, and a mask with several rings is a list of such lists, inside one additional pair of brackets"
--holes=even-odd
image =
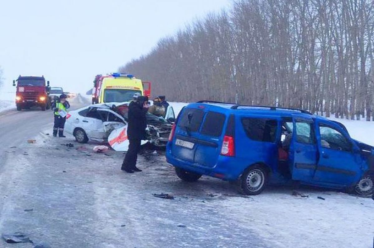
[[(17, 82), (17, 84), (16, 84)], [(17, 87), (16, 106), (17, 110), (40, 107), (43, 111), (50, 108), (49, 81), (44, 76), (21, 76), (13, 80), (13, 86)]]

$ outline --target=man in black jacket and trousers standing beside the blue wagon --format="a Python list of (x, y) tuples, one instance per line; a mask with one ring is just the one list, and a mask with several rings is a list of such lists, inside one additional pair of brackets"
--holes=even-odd
[(121, 167), (121, 170), (127, 173), (142, 171), (136, 167), (136, 164), (141, 140), (145, 140), (145, 128), (147, 127), (145, 115), (149, 108), (147, 101), (147, 97), (139, 96), (137, 100), (129, 104), (127, 137), (130, 145)]

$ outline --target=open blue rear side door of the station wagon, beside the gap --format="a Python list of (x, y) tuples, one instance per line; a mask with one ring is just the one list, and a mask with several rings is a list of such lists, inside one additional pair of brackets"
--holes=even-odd
[(317, 167), (317, 145), (313, 119), (293, 120), (293, 134), (290, 146), (292, 179), (309, 182)]

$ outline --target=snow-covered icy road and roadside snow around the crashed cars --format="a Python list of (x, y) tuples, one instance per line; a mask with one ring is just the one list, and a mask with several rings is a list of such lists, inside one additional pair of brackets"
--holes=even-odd
[[(82, 103), (88, 104), (77, 100)], [(178, 113), (186, 104), (171, 105)], [(127, 174), (120, 171), (121, 152), (97, 154), (94, 144), (46, 135), (51, 111), (8, 111), (0, 123), (0, 233), (21, 231), (64, 248), (373, 247), (370, 198), (296, 189), (309, 196), (303, 198), (292, 195), (291, 187), (275, 186), (242, 196), (219, 179), (182, 182), (163, 154), (139, 156), (144, 171)], [(355, 139), (372, 141), (373, 122), (344, 124)], [(30, 138), (37, 143), (26, 143)], [(0, 247), (15, 245), (0, 241)]]

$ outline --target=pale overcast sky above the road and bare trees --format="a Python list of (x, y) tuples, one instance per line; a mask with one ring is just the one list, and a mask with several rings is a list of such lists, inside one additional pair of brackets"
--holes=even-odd
[[(12, 80), (44, 75), (51, 86), (86, 92), (156, 42), (230, 0), (0, 0), (0, 99)], [(131, 72), (129, 72), (131, 73)]]

